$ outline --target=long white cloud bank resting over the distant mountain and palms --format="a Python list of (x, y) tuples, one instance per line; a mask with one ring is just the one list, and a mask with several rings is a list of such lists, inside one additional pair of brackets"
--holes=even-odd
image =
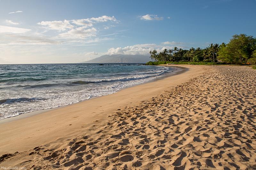
[(174, 46), (178, 48), (186, 48), (186, 46), (179, 46), (173, 44), (172, 46), (156, 45), (156, 44), (137, 44), (133, 46), (110, 48), (106, 54), (131, 54), (131, 55), (149, 55), (149, 51), (156, 50), (157, 52), (164, 49), (173, 49)]

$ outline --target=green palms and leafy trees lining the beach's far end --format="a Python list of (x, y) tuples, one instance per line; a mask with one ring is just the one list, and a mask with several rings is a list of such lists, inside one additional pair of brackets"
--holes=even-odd
[(256, 64), (256, 38), (240, 34), (233, 35), (228, 44), (210, 44), (204, 49), (191, 47), (189, 50), (174, 47), (159, 53), (156, 50), (149, 53), (152, 61)]

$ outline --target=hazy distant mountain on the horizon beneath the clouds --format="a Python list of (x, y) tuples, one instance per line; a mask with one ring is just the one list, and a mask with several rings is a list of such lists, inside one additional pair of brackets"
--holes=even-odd
[(96, 59), (85, 61), (82, 63), (146, 63), (150, 60), (149, 56), (145, 55), (102, 55)]

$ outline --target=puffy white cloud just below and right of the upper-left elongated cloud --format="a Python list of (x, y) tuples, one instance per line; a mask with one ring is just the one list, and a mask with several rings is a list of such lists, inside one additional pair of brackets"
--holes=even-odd
[(63, 38), (86, 38), (96, 36), (97, 30), (92, 27), (85, 29), (84, 27), (78, 27), (76, 29), (69, 30), (68, 32), (60, 34)]

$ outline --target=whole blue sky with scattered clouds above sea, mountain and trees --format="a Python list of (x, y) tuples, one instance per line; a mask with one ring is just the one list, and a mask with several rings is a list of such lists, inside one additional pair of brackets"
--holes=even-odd
[(0, 0), (0, 64), (204, 48), (256, 37), (256, 0)]

